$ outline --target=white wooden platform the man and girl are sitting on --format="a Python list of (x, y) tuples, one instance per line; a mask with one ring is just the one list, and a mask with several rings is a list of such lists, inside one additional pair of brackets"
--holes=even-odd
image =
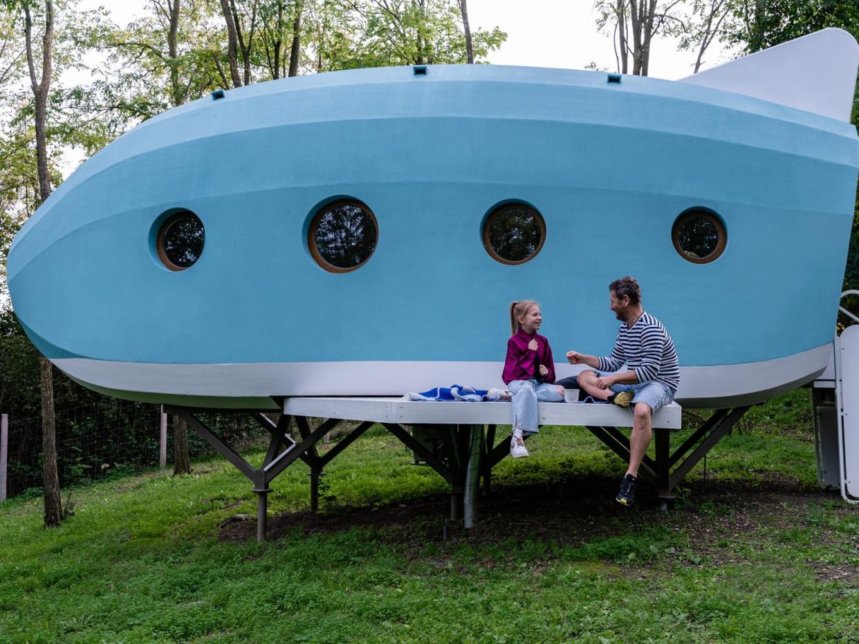
[[(425, 402), (404, 398), (287, 398), (283, 412), (353, 421), (397, 422), (403, 425), (509, 425), (507, 402)], [(655, 428), (681, 428), (682, 409), (672, 403), (651, 419)], [(632, 427), (632, 412), (613, 404), (539, 403), (540, 425)]]

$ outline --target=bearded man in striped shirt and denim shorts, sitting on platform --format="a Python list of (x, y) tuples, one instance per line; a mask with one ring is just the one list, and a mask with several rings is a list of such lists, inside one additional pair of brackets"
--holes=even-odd
[[(570, 364), (586, 364), (599, 369), (578, 375), (579, 388), (589, 396), (623, 407), (633, 405), (635, 417), (630, 435), (630, 466), (620, 484), (618, 503), (635, 501), (638, 467), (650, 444), (650, 416), (663, 404), (670, 404), (680, 382), (677, 352), (668, 331), (641, 303), (637, 281), (621, 277), (609, 287), (612, 311), (621, 321), (612, 355), (597, 357), (569, 351)], [(624, 366), (628, 371), (620, 371)], [(615, 372), (615, 373), (609, 373)]]

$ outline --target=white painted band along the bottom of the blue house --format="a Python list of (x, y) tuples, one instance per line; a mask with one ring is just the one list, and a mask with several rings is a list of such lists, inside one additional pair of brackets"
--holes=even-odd
[[(776, 360), (680, 368), (677, 400), (687, 407), (726, 407), (760, 402), (813, 380), (832, 351), (817, 349)], [(397, 396), (452, 384), (503, 387), (501, 362), (254, 362), (166, 364), (88, 358), (53, 360), (72, 378), (122, 392), (205, 398), (271, 396)], [(557, 378), (581, 366), (556, 363)], [(128, 398), (134, 398), (128, 396)]]

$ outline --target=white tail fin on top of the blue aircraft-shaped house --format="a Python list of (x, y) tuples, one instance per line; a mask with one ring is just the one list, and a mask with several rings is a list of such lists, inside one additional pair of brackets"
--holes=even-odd
[(859, 45), (843, 29), (823, 29), (679, 79), (850, 121)]

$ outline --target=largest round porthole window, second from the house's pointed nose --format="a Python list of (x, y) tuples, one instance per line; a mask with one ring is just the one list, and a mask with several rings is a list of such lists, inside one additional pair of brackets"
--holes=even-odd
[(364, 204), (351, 200), (326, 205), (308, 228), (310, 254), (332, 273), (348, 273), (366, 264), (378, 238), (373, 213)]

